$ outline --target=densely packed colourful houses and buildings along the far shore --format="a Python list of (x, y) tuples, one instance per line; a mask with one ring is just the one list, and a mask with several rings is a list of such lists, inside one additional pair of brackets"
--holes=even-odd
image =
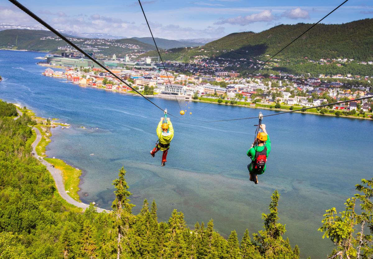
[[(259, 99), (262, 103), (276, 103), (281, 102), (288, 105), (301, 105), (304, 107), (313, 107), (327, 102), (326, 99), (313, 98), (322, 94), (327, 94), (334, 100), (341, 98), (348, 98), (350, 100), (358, 96), (372, 96), (373, 93), (369, 92), (369, 88), (360, 87), (357, 91), (352, 92), (351, 89), (344, 89), (343, 83), (332, 82), (322, 83), (319, 78), (308, 78), (307, 80), (298, 80), (288, 76), (288, 79), (280, 79), (278, 76), (270, 76), (271, 80), (264, 80), (263, 76), (257, 75), (252, 78), (243, 79), (239, 84), (228, 77), (204, 77), (199, 76), (186, 76), (178, 73), (165, 73), (164, 71), (143, 71), (143, 70), (111, 70), (118, 77), (128, 80), (133, 84), (132, 87), (139, 89), (149, 86), (154, 89), (154, 92), (163, 95), (178, 95), (190, 99), (195, 93), (198, 96), (212, 96), (217, 98), (219, 95), (226, 94), (227, 99), (235, 98), (239, 101), (251, 102), (254, 99)], [(131, 91), (131, 88), (122, 84), (120, 80), (106, 72), (102, 72), (100, 68), (93, 68), (90, 72), (78, 71), (78, 69), (67, 68), (65, 72), (53, 71), (47, 68), (44, 72), (46, 76), (63, 77), (71, 80), (73, 83), (82, 85), (90, 85), (96, 87), (103, 87), (106, 89), (115, 89), (117, 91)], [(106, 78), (106, 80), (105, 80)], [(130, 80), (131, 79), (131, 80)], [(210, 79), (210, 80), (206, 80)], [(213, 80), (212, 80), (213, 79)], [(110, 82), (104, 84), (104, 82)], [(210, 82), (209, 82), (210, 81)], [(212, 82), (225, 82), (226, 88), (212, 84)], [(264, 82), (265, 81), (265, 82)], [(170, 84), (171, 82), (171, 84)], [(273, 86), (273, 82), (278, 82)], [(285, 82), (286, 86), (282, 83)], [(286, 92), (286, 89), (294, 90), (293, 94)], [(372, 91), (372, 89), (370, 89)], [(289, 90), (288, 90), (289, 91)], [(302, 92), (303, 96), (296, 96), (294, 92)], [(258, 94), (260, 93), (260, 94)], [(276, 93), (274, 95), (273, 93)], [(316, 94), (316, 95), (315, 95)], [(311, 99), (312, 98), (312, 99)], [(370, 105), (367, 100), (361, 102), (361, 108), (364, 111), (369, 111)], [(336, 110), (353, 110), (357, 108), (356, 102), (349, 104), (339, 105), (334, 107)]]

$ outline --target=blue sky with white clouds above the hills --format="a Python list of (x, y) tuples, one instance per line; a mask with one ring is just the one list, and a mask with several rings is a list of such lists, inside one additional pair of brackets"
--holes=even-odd
[[(154, 37), (218, 38), (260, 32), (279, 24), (314, 23), (343, 0), (142, 0)], [(138, 1), (20, 0), (57, 29), (149, 37)], [(349, 0), (323, 23), (373, 18), (372, 0)], [(38, 25), (9, 1), (0, 0), (0, 23)]]

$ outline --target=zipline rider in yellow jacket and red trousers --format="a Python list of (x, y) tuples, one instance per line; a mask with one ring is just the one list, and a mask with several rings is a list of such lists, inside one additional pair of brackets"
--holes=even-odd
[(167, 158), (167, 152), (170, 148), (170, 142), (173, 138), (173, 127), (172, 123), (170, 121), (170, 118), (167, 118), (167, 122), (164, 121), (164, 117), (161, 118), (161, 120), (158, 123), (157, 126), (157, 136), (158, 141), (156, 143), (155, 148), (153, 148), (152, 151), (150, 151), (150, 155), (154, 157), (154, 155), (159, 151), (163, 151), (162, 155), (162, 166), (166, 165), (166, 158)]

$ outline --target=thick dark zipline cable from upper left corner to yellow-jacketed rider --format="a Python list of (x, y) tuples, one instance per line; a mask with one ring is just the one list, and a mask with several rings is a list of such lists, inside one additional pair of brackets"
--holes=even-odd
[[(58, 37), (60, 37), (62, 40), (66, 41), (69, 45), (71, 45), (73, 48), (75, 48), (76, 50), (80, 51), (82, 54), (84, 54), (88, 59), (92, 60), (94, 63), (96, 63), (98, 66), (100, 66), (101, 68), (103, 68), (104, 70), (106, 70), (107, 72), (109, 72), (110, 74), (112, 74), (116, 79), (118, 79), (120, 82), (124, 83), (126, 86), (128, 86), (129, 88), (131, 88), (132, 90), (134, 90), (135, 92), (137, 92), (138, 94), (140, 94), (142, 97), (144, 97), (146, 100), (148, 100), (149, 102), (151, 102), (154, 106), (156, 106), (157, 108), (159, 108), (160, 110), (164, 111), (161, 107), (159, 107), (157, 104), (155, 104), (154, 102), (152, 102), (151, 100), (149, 100), (147, 97), (145, 97), (143, 94), (141, 94), (141, 92), (137, 91), (135, 88), (133, 88), (131, 85), (129, 85), (127, 82), (125, 82), (122, 78), (120, 78), (119, 76), (115, 75), (113, 72), (111, 72), (109, 69), (107, 69), (103, 64), (99, 63), (97, 60), (95, 60), (93, 57), (91, 57), (90, 55), (88, 55), (88, 53), (86, 53), (84, 50), (82, 50), (81, 48), (79, 48), (77, 45), (75, 45), (72, 41), (70, 41), (68, 38), (66, 38), (65, 36), (63, 36), (60, 32), (56, 31), (56, 29), (54, 29), (52, 26), (50, 26), (48, 23), (46, 23), (43, 19), (41, 19), (39, 16), (35, 15), (35, 13), (31, 12), (27, 7), (23, 6), (21, 3), (19, 3), (17, 0), (9, 0), (11, 3), (13, 3), (15, 6), (17, 6), (19, 9), (21, 9), (23, 12), (27, 13), (29, 16), (31, 16), (32, 18), (34, 18), (35, 20), (37, 20), (39, 23), (41, 23), (42, 25), (44, 25), (44, 27), (46, 27), (47, 29), (49, 29), (51, 32), (53, 32), (54, 34), (56, 34)], [(175, 118), (178, 118), (176, 116), (173, 116), (172, 114), (169, 113), (170, 116), (172, 117), (175, 117)]]

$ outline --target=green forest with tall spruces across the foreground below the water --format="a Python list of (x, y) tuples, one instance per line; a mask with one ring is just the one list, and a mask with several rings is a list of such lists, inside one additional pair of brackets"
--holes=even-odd
[[(289, 240), (282, 238), (286, 229), (279, 223), (277, 190), (269, 212), (262, 215), (262, 230), (252, 237), (246, 230), (241, 242), (234, 230), (228, 239), (214, 231), (212, 219), (206, 225), (197, 222), (189, 228), (176, 209), (168, 222), (159, 222), (154, 200), (151, 205), (144, 200), (140, 213), (134, 215), (123, 168), (113, 181), (113, 211), (97, 213), (90, 205), (80, 212), (60, 198), (46, 167), (31, 155), (35, 136), (28, 125), (32, 120), (27, 115), (14, 120), (16, 110), (10, 106), (0, 102), (1, 259), (299, 258), (298, 246), (292, 248)], [(373, 231), (372, 185), (373, 179), (357, 185), (360, 193), (347, 200), (341, 217), (335, 215), (335, 208), (324, 215), (320, 231), (336, 244), (338, 250), (332, 254), (339, 252), (344, 258), (373, 255), (369, 236)]]

